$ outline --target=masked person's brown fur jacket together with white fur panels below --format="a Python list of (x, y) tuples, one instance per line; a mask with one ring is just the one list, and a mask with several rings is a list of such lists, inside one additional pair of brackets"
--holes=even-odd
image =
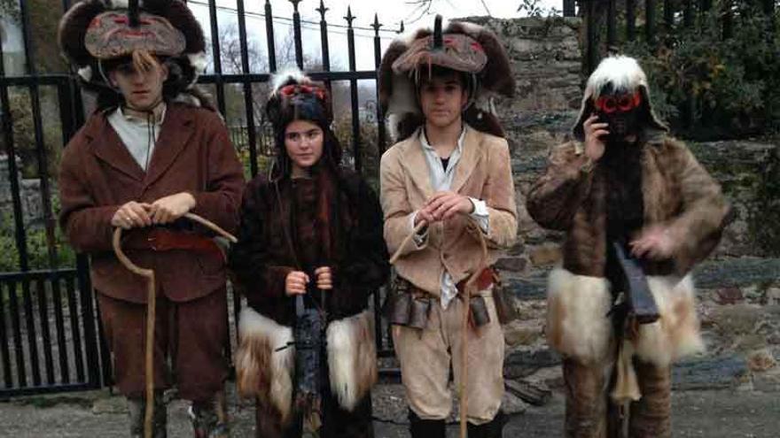
[[(656, 365), (703, 349), (695, 290), (688, 274), (720, 240), (729, 208), (721, 188), (682, 143), (661, 135), (641, 146), (644, 227), (663, 224), (675, 235), (675, 256), (644, 264), (659, 321), (639, 328), (631, 350)], [(550, 273), (547, 337), (583, 364), (613, 360), (612, 293), (605, 278), (607, 181), (597, 163), (583, 172), (580, 142), (559, 146), (528, 194), (527, 209), (542, 227), (566, 231), (563, 267)], [(630, 356), (630, 355), (629, 355)]]

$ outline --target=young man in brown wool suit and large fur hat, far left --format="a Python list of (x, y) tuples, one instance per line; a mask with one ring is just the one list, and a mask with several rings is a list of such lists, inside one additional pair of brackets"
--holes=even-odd
[(63, 153), (60, 223), (90, 255), (131, 436), (143, 430), (146, 280), (114, 256), (116, 227), (130, 259), (157, 275), (154, 437), (166, 436), (171, 372), (192, 402), (195, 436), (226, 436), (215, 409), (227, 376), (224, 257), (203, 229), (177, 219), (191, 211), (234, 230), (243, 171), (220, 116), (194, 105), (205, 43), (198, 22), (178, 0), (143, 4), (128, 11), (85, 0), (60, 24), (62, 50), (99, 90), (98, 111)]

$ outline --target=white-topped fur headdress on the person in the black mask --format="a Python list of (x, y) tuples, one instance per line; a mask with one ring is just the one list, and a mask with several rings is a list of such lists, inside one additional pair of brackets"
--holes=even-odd
[[(583, 124), (596, 111), (594, 103), (607, 88), (626, 93), (638, 91), (642, 96), (641, 107), (645, 131), (650, 130), (658, 133), (669, 130), (652, 110), (647, 76), (644, 74), (642, 67), (639, 66), (639, 63), (636, 62), (636, 59), (625, 56), (612, 56), (604, 58), (588, 78), (585, 95), (582, 97), (580, 115), (573, 127), (573, 135), (576, 139), (580, 141), (585, 139)], [(652, 132), (645, 132), (645, 134), (652, 134)]]

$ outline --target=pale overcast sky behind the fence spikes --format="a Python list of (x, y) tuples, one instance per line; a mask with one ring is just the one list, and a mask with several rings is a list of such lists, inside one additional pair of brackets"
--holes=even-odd
[[(445, 19), (484, 16), (488, 12), (498, 18), (519, 18), (524, 15), (518, 12), (521, 0), (433, 0), (429, 11), (414, 4), (415, 0), (325, 0), (324, 4), (329, 8), (325, 18), (329, 25), (329, 46), (331, 54), (331, 69), (344, 70), (347, 68), (347, 21), (343, 19), (347, 15), (347, 6), (351, 5), (352, 14), (355, 16), (353, 26), (355, 29), (355, 53), (358, 70), (374, 69), (373, 23), (374, 14), (378, 14), (379, 22), (383, 24), (380, 36), (382, 37), (382, 50), (398, 36), (397, 30), (401, 21), (404, 21), (406, 31), (420, 26), (433, 26), (433, 17), (441, 13)], [(260, 48), (263, 57), (267, 57), (266, 30), (264, 4), (261, 0), (245, 0), (246, 27), (248, 38)], [(292, 41), (292, 3), (289, 0), (271, 0), (273, 8), (275, 41), (277, 51), (283, 47), (285, 41)], [(204, 31), (210, 35), (210, 22), (207, 0), (189, 0), (188, 4), (198, 19), (201, 21)], [(236, 0), (216, 0), (218, 6), (217, 22), (223, 27), (237, 27)], [(545, 10), (555, 7), (560, 11), (563, 8), (563, 0), (541, 0), (539, 5)], [(319, 12), (316, 8), (319, 0), (302, 0), (299, 4), (299, 12), (302, 20), (303, 50), (313, 59), (321, 58), (321, 44), (319, 31)], [(277, 53), (277, 57), (279, 57)], [(306, 68), (306, 65), (304, 65)], [(258, 72), (260, 73), (260, 72)]]

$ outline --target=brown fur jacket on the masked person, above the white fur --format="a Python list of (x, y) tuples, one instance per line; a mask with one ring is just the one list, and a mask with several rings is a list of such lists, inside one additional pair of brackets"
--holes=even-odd
[[(663, 224), (678, 242), (671, 263), (649, 274), (683, 275), (720, 241), (729, 207), (720, 185), (683, 142), (663, 136), (642, 145), (644, 225)], [(606, 184), (598, 163), (582, 172), (581, 142), (550, 153), (550, 164), (528, 193), (527, 209), (542, 227), (566, 231), (563, 265), (571, 273), (603, 277), (606, 265)]]

